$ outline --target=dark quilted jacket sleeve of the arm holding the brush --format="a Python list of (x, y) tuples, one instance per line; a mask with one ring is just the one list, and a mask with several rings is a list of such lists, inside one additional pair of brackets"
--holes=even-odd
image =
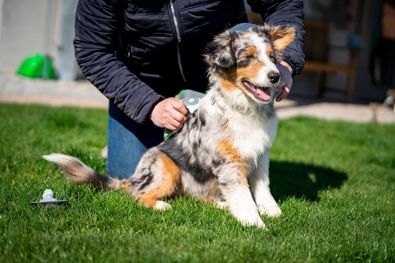
[(131, 73), (116, 56), (125, 7), (121, 0), (79, 0), (75, 57), (86, 78), (137, 123), (149, 122), (163, 96)]

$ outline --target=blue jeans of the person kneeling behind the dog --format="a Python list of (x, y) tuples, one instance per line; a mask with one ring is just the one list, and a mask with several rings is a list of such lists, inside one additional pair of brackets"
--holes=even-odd
[[(232, 28), (245, 31), (251, 26), (241, 23)], [(121, 179), (128, 178), (134, 173), (141, 156), (148, 148), (163, 141), (163, 128), (153, 123), (140, 125), (130, 119), (115, 104), (109, 104), (108, 133), (107, 133), (107, 174)]]

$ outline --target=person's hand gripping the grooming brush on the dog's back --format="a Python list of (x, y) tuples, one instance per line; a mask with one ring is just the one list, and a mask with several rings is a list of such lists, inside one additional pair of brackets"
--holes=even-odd
[(182, 100), (173, 97), (156, 104), (151, 113), (151, 121), (158, 127), (179, 131), (186, 121), (188, 109)]

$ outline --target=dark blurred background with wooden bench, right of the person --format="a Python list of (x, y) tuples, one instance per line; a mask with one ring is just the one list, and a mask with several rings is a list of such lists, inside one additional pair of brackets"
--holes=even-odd
[[(304, 3), (306, 64), (292, 96), (384, 101), (395, 86), (395, 1)], [(248, 15), (260, 23), (258, 14)]]

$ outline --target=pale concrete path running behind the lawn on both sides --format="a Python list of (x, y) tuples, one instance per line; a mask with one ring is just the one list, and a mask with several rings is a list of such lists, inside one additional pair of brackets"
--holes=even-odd
[[(3, 73), (0, 74), (0, 101), (52, 106), (108, 107), (107, 98), (87, 80), (64, 82), (31, 79)], [(393, 110), (381, 106), (329, 103), (307, 99), (285, 99), (275, 103), (275, 106), (280, 118), (311, 116), (331, 120), (395, 123)]]

